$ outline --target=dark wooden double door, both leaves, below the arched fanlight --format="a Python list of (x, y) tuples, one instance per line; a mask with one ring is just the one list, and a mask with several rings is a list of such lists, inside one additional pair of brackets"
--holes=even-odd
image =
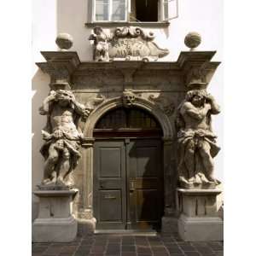
[(97, 230), (151, 230), (163, 214), (160, 139), (96, 141)]

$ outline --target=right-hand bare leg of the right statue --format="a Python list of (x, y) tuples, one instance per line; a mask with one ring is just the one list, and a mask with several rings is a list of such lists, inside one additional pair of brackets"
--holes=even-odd
[(209, 143), (206, 141), (202, 142), (202, 146), (200, 148), (200, 154), (202, 158), (203, 165), (206, 170), (206, 177), (208, 178), (209, 181), (215, 181), (213, 177), (213, 159), (212, 155), (210, 153), (211, 146)]

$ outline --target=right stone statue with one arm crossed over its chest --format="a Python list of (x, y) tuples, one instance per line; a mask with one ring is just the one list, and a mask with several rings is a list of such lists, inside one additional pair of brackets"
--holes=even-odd
[(214, 189), (213, 158), (220, 148), (212, 133), (211, 115), (220, 112), (205, 89), (189, 90), (177, 108), (178, 178), (184, 189)]

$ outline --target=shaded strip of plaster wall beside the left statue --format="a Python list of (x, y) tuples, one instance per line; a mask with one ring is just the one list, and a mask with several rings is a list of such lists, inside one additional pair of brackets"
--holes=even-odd
[[(43, 177), (44, 158), (39, 150), (43, 144), (41, 131), (46, 124), (46, 118), (40, 116), (38, 108), (49, 93), (49, 76), (41, 70), (32, 78), (32, 190), (41, 182)], [(32, 220), (38, 215), (38, 199), (32, 196)]]

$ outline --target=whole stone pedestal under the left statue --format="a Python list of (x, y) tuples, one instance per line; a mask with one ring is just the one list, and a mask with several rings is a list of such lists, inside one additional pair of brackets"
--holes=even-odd
[(76, 238), (78, 223), (71, 207), (77, 192), (77, 189), (33, 192), (39, 197), (39, 213), (32, 224), (32, 241), (67, 242)]

